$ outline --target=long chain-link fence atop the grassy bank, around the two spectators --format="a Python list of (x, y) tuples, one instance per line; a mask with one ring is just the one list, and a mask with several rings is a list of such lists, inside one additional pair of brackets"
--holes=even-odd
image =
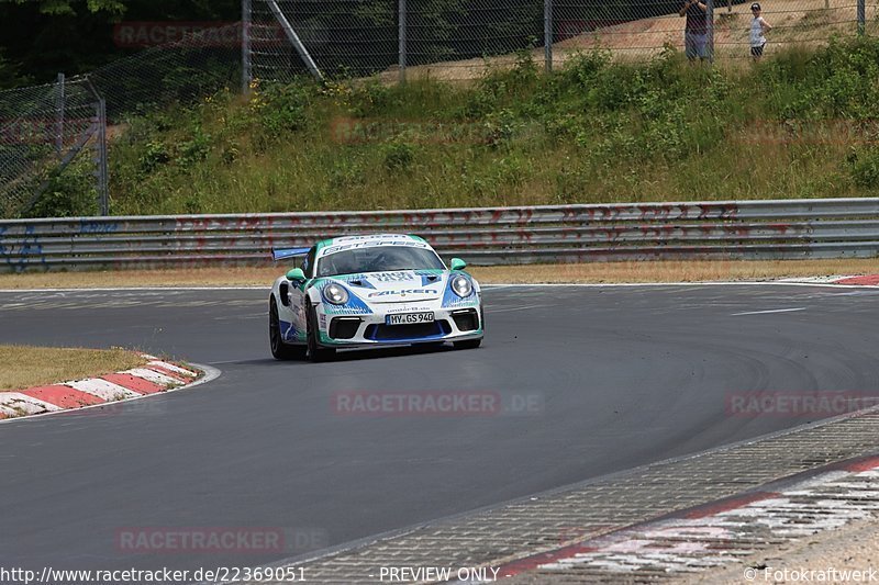
[[(871, 30), (876, 0), (767, 0), (765, 54)], [(750, 58), (752, 0), (703, 0), (705, 59)], [(547, 68), (602, 48), (643, 58), (685, 50), (685, 0), (243, 0), (245, 76), (470, 78), (530, 52)], [(683, 13), (683, 15), (681, 15)], [(699, 20), (699, 19), (697, 19)], [(552, 40), (546, 43), (546, 40)], [(316, 69), (316, 71), (315, 71)]]

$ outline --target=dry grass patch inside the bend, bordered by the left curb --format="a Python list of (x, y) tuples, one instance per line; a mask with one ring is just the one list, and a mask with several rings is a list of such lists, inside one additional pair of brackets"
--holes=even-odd
[(103, 375), (146, 363), (127, 349), (0, 346), (0, 392)]

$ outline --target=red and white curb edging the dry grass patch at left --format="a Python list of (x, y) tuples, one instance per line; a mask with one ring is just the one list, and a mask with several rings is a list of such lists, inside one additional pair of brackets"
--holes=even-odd
[(159, 360), (154, 356), (143, 355), (143, 358), (148, 361), (141, 368), (99, 378), (34, 386), (19, 392), (0, 392), (0, 419), (141, 398), (190, 386), (199, 381), (203, 373)]

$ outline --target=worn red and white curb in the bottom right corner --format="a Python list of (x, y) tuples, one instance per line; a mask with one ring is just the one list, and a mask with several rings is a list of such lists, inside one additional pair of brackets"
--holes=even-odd
[(515, 561), (501, 574), (537, 572), (572, 581), (680, 576), (870, 518), (879, 518), (879, 457)]

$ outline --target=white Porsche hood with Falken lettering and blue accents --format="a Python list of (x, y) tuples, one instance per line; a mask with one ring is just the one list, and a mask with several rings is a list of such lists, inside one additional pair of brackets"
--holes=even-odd
[(445, 270), (399, 270), (332, 277), (371, 304), (411, 303), (443, 297), (448, 272)]

